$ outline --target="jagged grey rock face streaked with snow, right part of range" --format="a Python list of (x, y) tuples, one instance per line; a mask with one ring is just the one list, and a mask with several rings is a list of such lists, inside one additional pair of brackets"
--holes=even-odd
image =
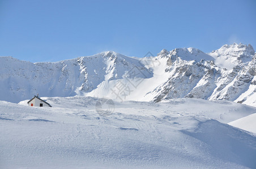
[[(180, 61), (183, 56), (177, 53), (183, 49), (170, 51), (165, 72), (172, 72), (168, 81), (161, 84), (154, 91), (153, 101), (173, 99), (178, 97), (200, 98), (208, 100), (237, 100), (244, 102), (247, 95), (242, 96), (249, 88), (255, 88), (256, 59), (251, 45), (224, 45), (210, 55), (217, 56), (224, 61), (233, 61), (233, 68), (220, 68), (215, 65), (216, 59)], [(187, 52), (185, 52), (186, 54)], [(195, 52), (194, 52), (195, 53)], [(201, 52), (197, 52), (197, 54)], [(184, 54), (184, 52), (182, 52)], [(201, 54), (203, 55), (203, 54)], [(175, 57), (178, 59), (175, 59)], [(194, 56), (195, 57), (195, 56)], [(185, 57), (186, 58), (186, 57)], [(193, 57), (192, 57), (193, 58)], [(186, 58), (186, 60), (189, 60)], [(172, 64), (169, 64), (172, 63)], [(249, 91), (248, 91), (249, 92)], [(255, 91), (249, 92), (253, 95)], [(254, 98), (253, 98), (254, 99)], [(254, 103), (256, 98), (254, 99)], [(256, 104), (255, 104), (256, 105)]]

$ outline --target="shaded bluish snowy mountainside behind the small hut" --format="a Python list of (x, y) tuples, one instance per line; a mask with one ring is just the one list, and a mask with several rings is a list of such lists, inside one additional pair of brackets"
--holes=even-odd
[[(143, 78), (150, 70), (139, 60), (116, 52), (79, 57), (57, 63), (29, 63), (13, 57), (0, 57), (0, 100), (18, 103), (39, 93), (41, 96), (75, 96), (94, 90), (101, 82), (120, 79), (138, 68)], [(142, 77), (142, 75), (134, 75)]]

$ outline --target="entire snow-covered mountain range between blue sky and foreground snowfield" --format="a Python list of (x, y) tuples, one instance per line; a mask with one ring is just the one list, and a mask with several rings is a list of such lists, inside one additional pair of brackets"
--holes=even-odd
[(251, 45), (224, 45), (127, 57), (108, 51), (57, 63), (0, 57), (0, 100), (40, 96), (94, 96), (155, 101), (190, 97), (256, 106), (256, 55)]

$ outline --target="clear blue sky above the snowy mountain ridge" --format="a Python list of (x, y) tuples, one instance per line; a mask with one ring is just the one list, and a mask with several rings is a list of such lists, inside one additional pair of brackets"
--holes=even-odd
[(142, 57), (163, 48), (256, 50), (256, 1), (0, 0), (0, 56), (59, 61), (113, 50)]

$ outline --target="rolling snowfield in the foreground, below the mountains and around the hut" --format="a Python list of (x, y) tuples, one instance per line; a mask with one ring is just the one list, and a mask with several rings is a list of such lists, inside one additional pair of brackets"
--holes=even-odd
[(0, 101), (0, 168), (256, 167), (256, 134), (227, 124), (251, 106), (128, 101), (102, 116), (93, 97), (45, 99), (53, 108)]

